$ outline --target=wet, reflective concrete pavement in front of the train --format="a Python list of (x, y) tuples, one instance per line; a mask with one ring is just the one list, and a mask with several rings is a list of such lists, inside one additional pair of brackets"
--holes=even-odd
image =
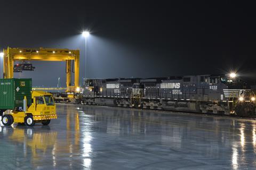
[(1, 126), (0, 169), (256, 169), (255, 121), (64, 104), (57, 113), (49, 126)]

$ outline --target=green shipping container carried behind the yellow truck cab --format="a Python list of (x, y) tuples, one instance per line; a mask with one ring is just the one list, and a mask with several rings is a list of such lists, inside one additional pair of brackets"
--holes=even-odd
[(32, 79), (0, 79), (0, 109), (23, 107), (24, 96), (31, 105)]

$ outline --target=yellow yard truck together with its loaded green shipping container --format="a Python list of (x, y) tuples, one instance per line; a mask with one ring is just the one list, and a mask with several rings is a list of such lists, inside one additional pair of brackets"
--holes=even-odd
[(0, 116), (3, 125), (48, 125), (51, 119), (57, 118), (52, 94), (30, 89), (31, 79), (0, 79)]

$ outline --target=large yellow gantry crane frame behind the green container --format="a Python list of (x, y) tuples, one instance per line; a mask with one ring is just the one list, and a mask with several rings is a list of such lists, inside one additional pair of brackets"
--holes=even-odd
[[(4, 79), (13, 78), (15, 61), (59, 61), (66, 62), (67, 92), (79, 89), (79, 50), (59, 48), (10, 48), (4, 49)], [(73, 63), (74, 71), (71, 67)], [(74, 86), (71, 73), (74, 72)]]

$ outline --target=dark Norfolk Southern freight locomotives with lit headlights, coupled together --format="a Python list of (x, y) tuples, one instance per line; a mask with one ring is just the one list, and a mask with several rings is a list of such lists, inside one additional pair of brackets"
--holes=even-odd
[(235, 73), (164, 78), (86, 79), (76, 103), (255, 116), (255, 95)]

